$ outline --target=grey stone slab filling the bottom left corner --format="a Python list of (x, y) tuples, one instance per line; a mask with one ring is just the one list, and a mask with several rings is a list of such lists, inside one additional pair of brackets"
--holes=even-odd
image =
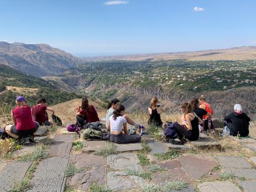
[(9, 191), (21, 181), (31, 164), (31, 161), (0, 161), (0, 191)]

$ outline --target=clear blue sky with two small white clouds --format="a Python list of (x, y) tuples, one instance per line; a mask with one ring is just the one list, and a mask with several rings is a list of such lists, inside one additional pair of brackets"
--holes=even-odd
[(255, 0), (0, 0), (0, 41), (75, 56), (256, 45)]

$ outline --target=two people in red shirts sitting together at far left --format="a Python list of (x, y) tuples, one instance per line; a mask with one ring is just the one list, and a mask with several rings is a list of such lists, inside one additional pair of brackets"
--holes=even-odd
[(26, 139), (35, 142), (33, 135), (36, 134), (38, 127), (40, 125), (52, 125), (46, 111), (51, 111), (54, 114), (54, 110), (46, 105), (45, 99), (39, 99), (37, 105), (31, 109), (27, 105), (25, 98), (18, 96), (16, 98), (16, 107), (11, 111), (13, 124), (7, 125), (4, 131), (8, 136), (20, 139), (21, 143)]

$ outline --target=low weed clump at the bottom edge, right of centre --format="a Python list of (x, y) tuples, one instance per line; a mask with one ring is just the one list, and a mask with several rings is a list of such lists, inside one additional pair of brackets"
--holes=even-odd
[(170, 190), (181, 190), (188, 187), (188, 184), (183, 181), (169, 181), (164, 185), (146, 184), (142, 186), (142, 192), (168, 192)]

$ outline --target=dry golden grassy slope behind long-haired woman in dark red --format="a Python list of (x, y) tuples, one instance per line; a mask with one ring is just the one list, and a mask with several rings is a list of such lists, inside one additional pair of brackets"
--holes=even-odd
[[(100, 118), (105, 117), (106, 109), (103, 109), (100, 101), (94, 102), (89, 100), (89, 103), (93, 105)], [(55, 110), (55, 114), (61, 118), (64, 125), (75, 124), (76, 122), (76, 107), (81, 106), (81, 99), (74, 99), (61, 104), (52, 106)]]

